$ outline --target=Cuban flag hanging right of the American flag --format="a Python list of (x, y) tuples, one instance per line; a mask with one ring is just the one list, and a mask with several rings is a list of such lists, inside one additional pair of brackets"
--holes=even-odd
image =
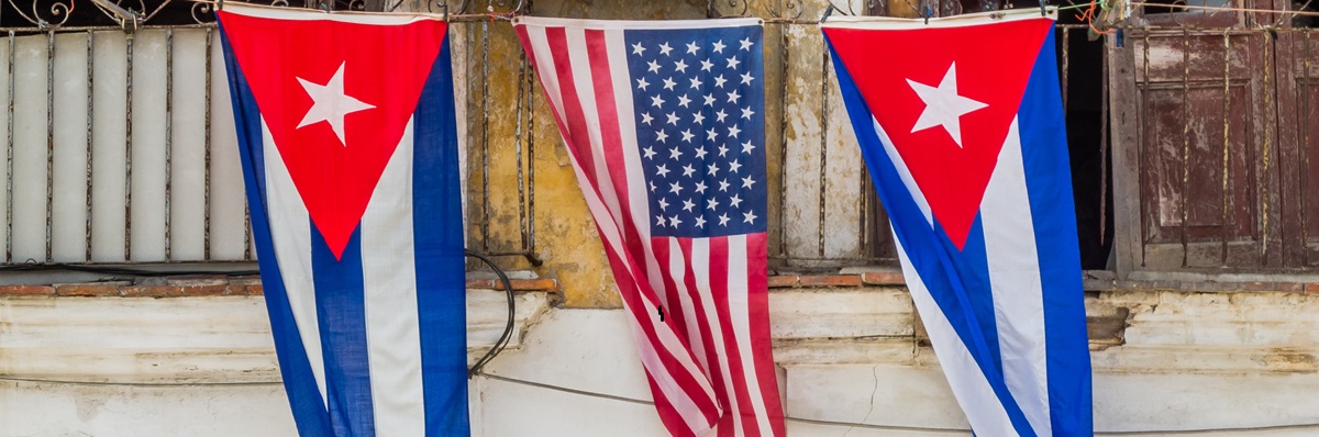
[(822, 28), (902, 272), (971, 429), (1091, 434), (1054, 20), (843, 17)]

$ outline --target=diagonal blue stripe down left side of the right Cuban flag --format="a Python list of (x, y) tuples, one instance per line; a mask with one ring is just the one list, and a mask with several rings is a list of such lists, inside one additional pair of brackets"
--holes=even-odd
[[(824, 41), (828, 41), (827, 36)], [(904, 247), (951, 247), (952, 242), (938, 222), (935, 222), (933, 232), (929, 230), (931, 226), (925, 220), (925, 216), (921, 215), (915, 200), (911, 199), (911, 193), (907, 192), (906, 186), (898, 176), (897, 167), (884, 151), (884, 145), (874, 130), (873, 116), (865, 105), (865, 100), (861, 99), (861, 92), (832, 47), (830, 49), (830, 57), (834, 61), (838, 74), (843, 101), (848, 108), (848, 117), (852, 121), (852, 128), (856, 130), (856, 138), (861, 145), (867, 166), (871, 168), (871, 176), (874, 178), (876, 191), (880, 193), (880, 200), (884, 201), (885, 209), (889, 211), (889, 221), (896, 230), (894, 237), (902, 242)], [(983, 236), (984, 232), (981, 228), (980, 238), (984, 238)], [(925, 280), (939, 308), (947, 315), (954, 330), (962, 337), (967, 347), (971, 349), (971, 355), (975, 357), (980, 371), (985, 374), (985, 379), (993, 388), (995, 395), (997, 395), (998, 403), (1006, 411), (1013, 428), (1021, 436), (1034, 436), (1034, 429), (1031, 429), (1030, 423), (1026, 421), (1026, 416), (1021, 412), (1021, 407), (1017, 405), (1017, 401), (1008, 391), (1002, 371), (998, 370), (1001, 366), (991, 357), (989, 346), (985, 342), (985, 333), (980, 332), (979, 326), (981, 324), (977, 321), (976, 312), (971, 309), (972, 304), (967, 297), (967, 290), (962, 283), (951, 280), (958, 272), (950, 272), (952, 261), (948, 258), (948, 253), (944, 250), (909, 250), (907, 258), (911, 261), (911, 266), (921, 272), (921, 279)], [(988, 288), (985, 292), (988, 292)]]

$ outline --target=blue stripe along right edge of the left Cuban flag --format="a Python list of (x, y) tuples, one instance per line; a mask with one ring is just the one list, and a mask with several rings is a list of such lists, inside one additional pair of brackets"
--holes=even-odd
[(467, 436), (467, 282), (448, 38), (413, 115), (413, 234), (427, 436)]

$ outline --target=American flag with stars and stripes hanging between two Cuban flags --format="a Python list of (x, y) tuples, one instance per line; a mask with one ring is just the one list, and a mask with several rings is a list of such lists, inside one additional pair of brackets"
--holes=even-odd
[(518, 18), (674, 436), (783, 436), (757, 20)]

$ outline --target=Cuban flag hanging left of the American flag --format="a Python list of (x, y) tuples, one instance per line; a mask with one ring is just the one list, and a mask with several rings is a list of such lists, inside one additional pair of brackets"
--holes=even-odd
[(302, 436), (467, 436), (447, 25), (230, 3), (248, 207)]

